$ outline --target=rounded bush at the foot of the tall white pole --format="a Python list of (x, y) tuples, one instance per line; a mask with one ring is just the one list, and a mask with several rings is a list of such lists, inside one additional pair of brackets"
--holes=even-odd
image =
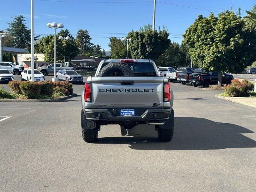
[(38, 99), (40, 97), (41, 88), (42, 84), (37, 82), (26, 81), (20, 83), (20, 90), (28, 99)]

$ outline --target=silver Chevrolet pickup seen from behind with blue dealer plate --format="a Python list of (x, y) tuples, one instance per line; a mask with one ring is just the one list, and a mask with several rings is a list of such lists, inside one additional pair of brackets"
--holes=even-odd
[(119, 124), (131, 129), (154, 125), (160, 141), (172, 140), (173, 92), (159, 76), (153, 60), (102, 60), (89, 76), (82, 93), (81, 126), (85, 142), (95, 142), (101, 125)]

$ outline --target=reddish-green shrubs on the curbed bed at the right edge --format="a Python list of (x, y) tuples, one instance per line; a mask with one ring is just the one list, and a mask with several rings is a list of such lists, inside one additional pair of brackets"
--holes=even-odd
[(253, 87), (253, 83), (248, 80), (234, 79), (230, 85), (225, 87), (225, 90), (229, 97), (248, 97), (250, 96), (248, 91), (252, 90)]

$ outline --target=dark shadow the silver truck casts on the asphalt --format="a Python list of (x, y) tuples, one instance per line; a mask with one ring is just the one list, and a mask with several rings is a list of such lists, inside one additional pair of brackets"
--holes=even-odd
[[(127, 136), (98, 138), (98, 143), (129, 144), (130, 148), (136, 150), (213, 150), (256, 147), (256, 141), (242, 135), (253, 133), (251, 130), (204, 118), (176, 117), (174, 138), (171, 142), (159, 142), (154, 126), (138, 125), (127, 132)], [(127, 132), (122, 130), (123, 135)]]

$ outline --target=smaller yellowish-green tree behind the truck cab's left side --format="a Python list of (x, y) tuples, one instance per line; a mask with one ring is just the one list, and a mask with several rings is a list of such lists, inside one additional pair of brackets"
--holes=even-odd
[(126, 42), (116, 37), (111, 37), (109, 40), (110, 57), (112, 59), (126, 58)]

